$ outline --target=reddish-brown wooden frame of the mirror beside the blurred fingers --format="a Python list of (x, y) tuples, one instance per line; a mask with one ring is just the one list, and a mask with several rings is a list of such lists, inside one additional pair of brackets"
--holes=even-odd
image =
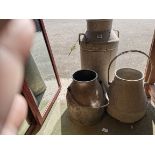
[(22, 88), (22, 94), (25, 97), (27, 104), (28, 104), (28, 115), (27, 115), (27, 122), (30, 125), (29, 128), (27, 129), (25, 134), (36, 134), (40, 128), (42, 127), (44, 121), (46, 120), (53, 104), (55, 103), (60, 91), (61, 91), (61, 82), (60, 82), (60, 78), (59, 78), (59, 74), (57, 71), (57, 67), (56, 67), (56, 63), (54, 60), (54, 56), (52, 53), (52, 49), (50, 46), (50, 42), (48, 39), (48, 35), (46, 32), (46, 28), (44, 25), (44, 21), (42, 19), (38, 19), (39, 21), (39, 25), (41, 28), (41, 32), (43, 34), (43, 38), (47, 47), (47, 51), (49, 54), (49, 58), (52, 64), (52, 70), (54, 71), (56, 80), (57, 80), (57, 84), (58, 84), (58, 89), (55, 92), (55, 95), (53, 96), (53, 98), (50, 100), (50, 102), (47, 104), (46, 110), (43, 114), (40, 113), (39, 108), (34, 100), (33, 94), (28, 86), (28, 83), (26, 82), (26, 80), (24, 80), (23, 83), (23, 88)]

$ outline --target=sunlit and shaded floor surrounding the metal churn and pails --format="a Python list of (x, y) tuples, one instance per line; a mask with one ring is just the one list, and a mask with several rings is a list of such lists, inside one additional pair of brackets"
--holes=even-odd
[[(155, 20), (114, 20), (113, 28), (120, 31), (118, 53), (129, 49), (139, 49), (148, 53), (154, 24)], [(95, 126), (83, 127), (72, 122), (68, 117), (65, 95), (66, 88), (72, 81), (72, 74), (80, 68), (79, 46), (76, 45), (70, 56), (68, 54), (78, 38), (78, 33), (85, 32), (86, 22), (85, 20), (45, 20), (45, 25), (60, 74), (62, 90), (38, 134), (155, 134), (155, 109), (150, 102), (145, 117), (134, 124), (121, 123), (106, 113), (102, 121)], [(144, 72), (146, 62), (141, 55), (128, 55), (117, 61), (116, 68), (129, 66)], [(43, 69), (47, 73), (47, 67)], [(23, 134), (26, 127), (27, 125), (24, 124), (19, 134)]]

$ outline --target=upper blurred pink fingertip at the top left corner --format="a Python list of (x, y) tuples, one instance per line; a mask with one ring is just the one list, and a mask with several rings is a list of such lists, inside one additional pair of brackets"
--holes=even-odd
[(32, 20), (10, 20), (7, 27), (1, 32), (0, 45), (17, 54), (24, 61), (34, 37), (35, 26)]

